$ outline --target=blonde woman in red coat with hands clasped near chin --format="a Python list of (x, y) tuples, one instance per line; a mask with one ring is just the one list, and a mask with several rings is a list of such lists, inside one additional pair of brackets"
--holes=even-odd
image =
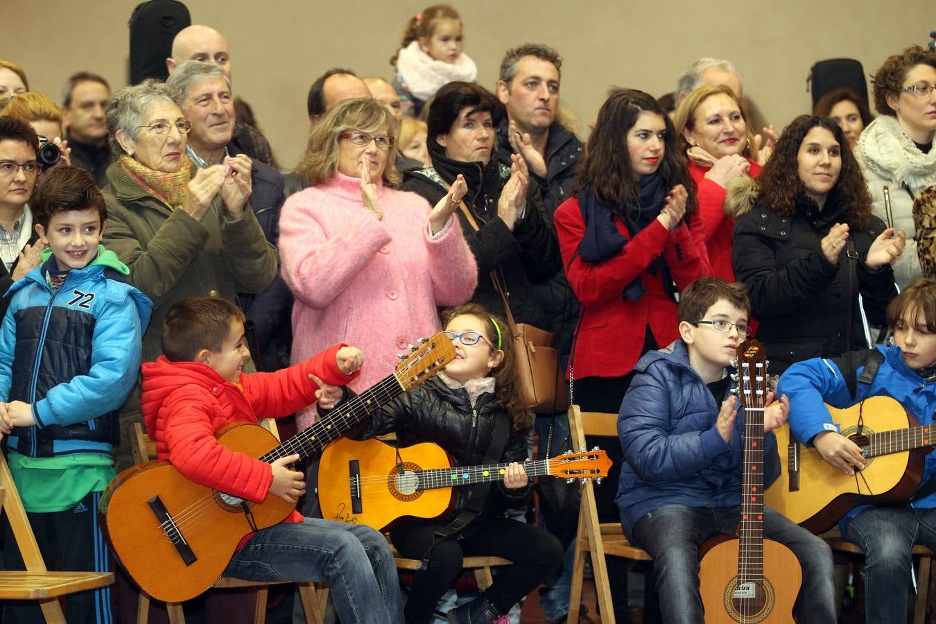
[[(698, 222), (709, 254), (711, 274), (735, 281), (731, 268), (731, 233), (735, 218), (724, 211), (728, 182), (760, 175), (751, 157), (751, 133), (738, 96), (725, 86), (699, 87), (676, 111), (677, 146), (689, 160), (689, 174), (698, 187)], [(773, 142), (768, 146), (772, 148)], [(769, 154), (767, 148), (761, 156)], [(763, 162), (763, 159), (762, 159)], [(695, 222), (693, 223), (695, 227)]]

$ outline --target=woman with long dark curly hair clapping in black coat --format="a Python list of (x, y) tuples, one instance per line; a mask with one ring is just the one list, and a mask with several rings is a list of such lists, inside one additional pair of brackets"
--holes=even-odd
[(858, 294), (870, 322), (883, 325), (897, 295), (890, 265), (906, 234), (871, 215), (839, 125), (821, 115), (797, 117), (760, 177), (732, 185), (726, 202), (739, 214), (731, 257), (760, 319), (770, 372), (868, 346)]

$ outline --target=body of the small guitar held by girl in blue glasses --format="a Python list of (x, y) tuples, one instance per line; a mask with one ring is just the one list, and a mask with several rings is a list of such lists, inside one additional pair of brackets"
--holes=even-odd
[[(453, 487), (415, 489), (403, 475), (424, 468), (448, 468), (452, 461), (441, 446), (414, 444), (397, 449), (379, 440), (343, 438), (330, 443), (318, 466), (318, 503), (322, 517), (386, 530), (403, 517), (434, 518), (453, 504)], [(359, 506), (352, 496), (352, 462), (361, 477)], [(399, 478), (398, 478), (399, 477)], [(355, 512), (355, 508), (359, 511)]]

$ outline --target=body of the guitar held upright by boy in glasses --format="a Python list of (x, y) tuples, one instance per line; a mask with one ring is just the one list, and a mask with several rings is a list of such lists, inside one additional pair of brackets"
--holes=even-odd
[(753, 596), (740, 598), (738, 588), (739, 544), (726, 535), (702, 544), (699, 561), (699, 593), (706, 624), (723, 622), (793, 622), (802, 573), (793, 551), (773, 540), (764, 540), (763, 582), (754, 585)]

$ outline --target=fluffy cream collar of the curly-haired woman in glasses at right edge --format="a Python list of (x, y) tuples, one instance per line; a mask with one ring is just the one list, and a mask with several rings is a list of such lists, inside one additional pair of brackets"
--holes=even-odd
[(894, 117), (882, 115), (858, 138), (861, 162), (874, 175), (906, 184), (914, 196), (936, 184), (936, 150), (920, 152)]

